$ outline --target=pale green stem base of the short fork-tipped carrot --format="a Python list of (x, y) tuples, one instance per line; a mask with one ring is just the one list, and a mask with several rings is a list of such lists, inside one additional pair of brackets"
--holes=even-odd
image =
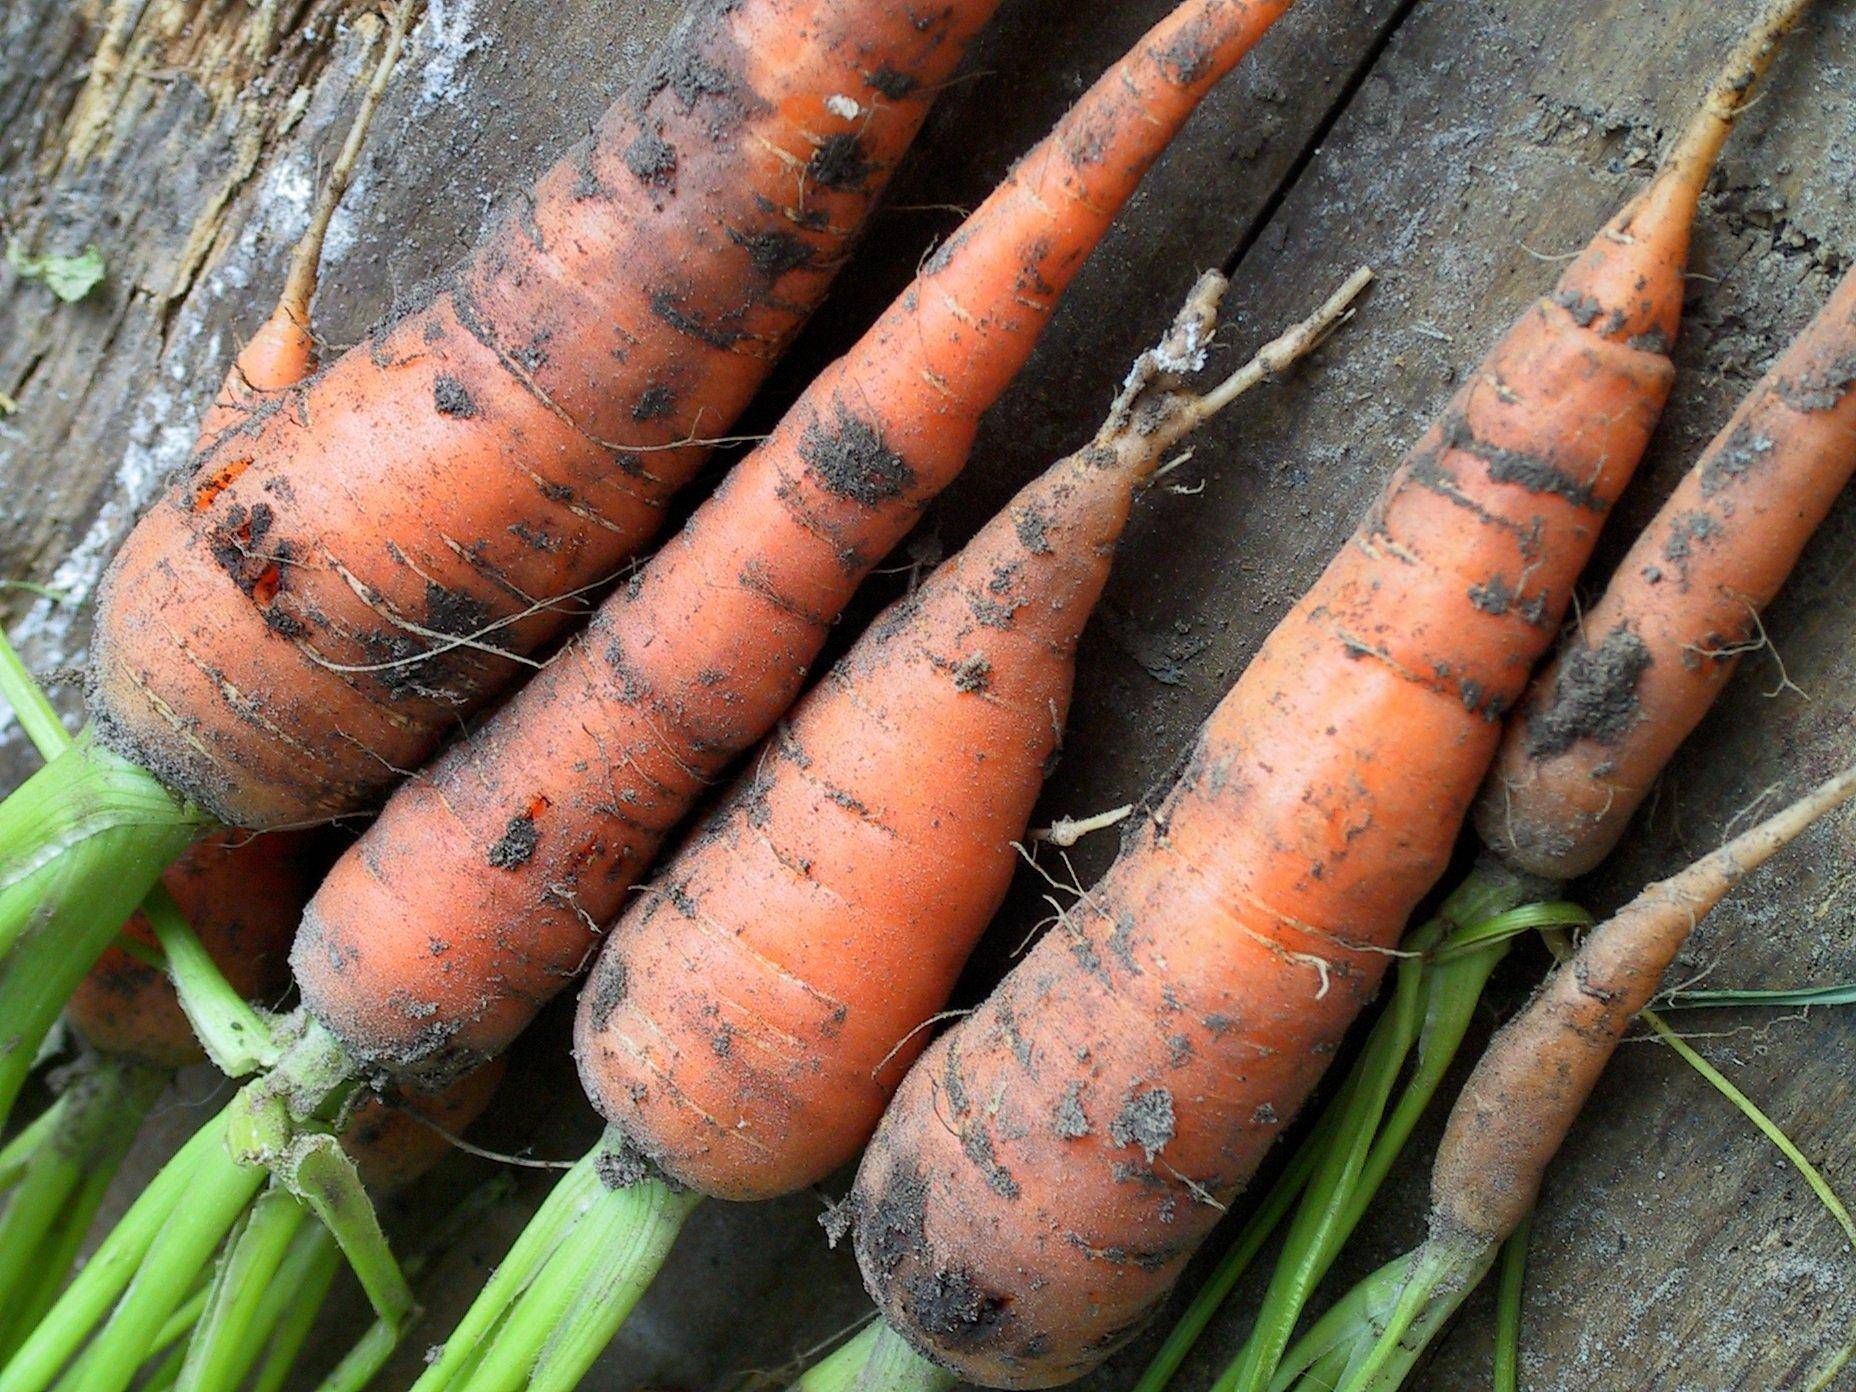
[(640, 1179), (603, 1188), (536, 1273), (471, 1379), (484, 1392), (572, 1392), (650, 1290), (702, 1195)]

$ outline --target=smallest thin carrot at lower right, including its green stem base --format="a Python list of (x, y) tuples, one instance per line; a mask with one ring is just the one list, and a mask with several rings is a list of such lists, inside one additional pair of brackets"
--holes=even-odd
[(1375, 1310), (1372, 1334), (1362, 1347), (1334, 1344), (1347, 1364), (1338, 1390), (1394, 1392), (1403, 1383), (1502, 1242), (1526, 1221), (1598, 1075), (1695, 926), (1746, 874), (1850, 796), (1856, 768), (1650, 885), (1579, 945), (1502, 1026), (1451, 1108), (1431, 1169), (1424, 1245), (1368, 1277), (1351, 1305), (1336, 1310), (1340, 1318), (1310, 1329), (1308, 1353), (1292, 1353), (1290, 1368), (1327, 1353), (1346, 1321), (1357, 1320), (1353, 1307), (1362, 1307)]

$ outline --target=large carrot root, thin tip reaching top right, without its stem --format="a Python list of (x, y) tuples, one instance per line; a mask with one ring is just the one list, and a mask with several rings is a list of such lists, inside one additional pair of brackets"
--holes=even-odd
[(1108, 874), (917, 1062), (856, 1186), (891, 1329), (1049, 1386), (1123, 1344), (1435, 883), (1667, 397), (1689, 230), (1772, 6), (1656, 180), (1474, 371)]

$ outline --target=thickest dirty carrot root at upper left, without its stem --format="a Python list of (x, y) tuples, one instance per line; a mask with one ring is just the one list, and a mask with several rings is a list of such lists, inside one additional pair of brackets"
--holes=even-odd
[(728, 431), (824, 295), (995, 4), (917, 24), (891, 0), (702, 0), (462, 265), (319, 377), (282, 384), (308, 334), (273, 316), (247, 356), (282, 390), (228, 386), (208, 425), (251, 410), (106, 577), (111, 746), (239, 826), (373, 806), (657, 531), (689, 442)]

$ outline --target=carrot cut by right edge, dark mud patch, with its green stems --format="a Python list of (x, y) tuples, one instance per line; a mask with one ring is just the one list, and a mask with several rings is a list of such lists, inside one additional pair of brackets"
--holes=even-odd
[[(1702, 451), (1585, 612), (1559, 663), (1531, 681), (1477, 800), (1483, 856), (1444, 900), (1438, 921), (1405, 939), (1407, 950), (1437, 958), (1399, 967), (1401, 986), (1407, 976), (1422, 978), (1411, 991), (1424, 1025), (1407, 1028), (1388, 1010), (1364, 1050), (1386, 1089), (1412, 1049), (1422, 1065), (1396, 1108), (1381, 1114), (1383, 1123), (1366, 1117), (1364, 1130), (1377, 1134), (1353, 1179), (1340, 1179), (1344, 1145), (1310, 1175), (1308, 1197), (1284, 1240), (1290, 1255), (1277, 1264), (1244, 1353), (1216, 1392), (1271, 1385), (1308, 1295), (1442, 1084), (1481, 987), (1507, 954), (1511, 939), (1490, 935), (1490, 926), (1526, 900), (1555, 893), (1613, 848), (1739, 657), (1763, 637), (1759, 611), (1856, 470), (1852, 316), (1856, 278), (1847, 278)], [(1565, 921), (1565, 908), (1522, 913), (1540, 911)], [(1542, 924), (1514, 921), (1514, 928), (1526, 926)], [(1451, 954), (1450, 965), (1444, 954)], [(1394, 1038), (1401, 1043), (1392, 1045)], [(1359, 1114), (1359, 1106), (1349, 1091), (1331, 1104), (1336, 1115)], [(1270, 1208), (1266, 1203), (1258, 1212)], [(1177, 1372), (1260, 1242), (1260, 1221), (1232, 1244), (1136, 1392), (1156, 1392)]]

